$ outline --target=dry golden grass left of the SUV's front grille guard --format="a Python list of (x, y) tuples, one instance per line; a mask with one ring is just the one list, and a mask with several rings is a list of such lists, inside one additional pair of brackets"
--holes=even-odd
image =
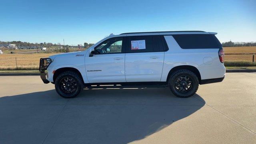
[[(1, 54), (0, 70), (38, 70), (40, 58), (49, 57), (52, 54)], [(16, 67), (17, 59), (17, 67)]]

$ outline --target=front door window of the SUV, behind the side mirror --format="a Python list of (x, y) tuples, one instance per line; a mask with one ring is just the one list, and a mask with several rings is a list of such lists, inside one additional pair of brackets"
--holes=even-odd
[(96, 54), (116, 54), (122, 52), (123, 38), (110, 38), (95, 48)]

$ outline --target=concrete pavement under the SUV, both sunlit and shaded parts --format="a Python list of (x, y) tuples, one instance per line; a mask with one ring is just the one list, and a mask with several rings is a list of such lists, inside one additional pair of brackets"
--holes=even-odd
[(256, 73), (227, 73), (177, 98), (168, 88), (83, 90), (0, 76), (0, 143), (256, 143)]

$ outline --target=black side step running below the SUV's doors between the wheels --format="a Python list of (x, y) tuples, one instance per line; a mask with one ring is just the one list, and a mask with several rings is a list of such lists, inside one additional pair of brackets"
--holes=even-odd
[(166, 82), (120, 82), (85, 84), (86, 88), (154, 88), (166, 86)]

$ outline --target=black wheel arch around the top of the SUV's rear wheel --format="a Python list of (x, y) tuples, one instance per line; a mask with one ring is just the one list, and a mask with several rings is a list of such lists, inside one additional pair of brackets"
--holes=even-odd
[(177, 70), (190, 70), (191, 72), (194, 72), (194, 74), (196, 74), (197, 78), (198, 78), (198, 81), (199, 81), (199, 84), (201, 84), (201, 75), (200, 75), (200, 72), (199, 70), (194, 67), (194, 66), (190, 66), (190, 65), (182, 65), (182, 66), (175, 66), (174, 68), (172, 68), (169, 73), (168, 73), (168, 76), (167, 76), (167, 79), (166, 79), (166, 82), (169, 80), (171, 74)]

